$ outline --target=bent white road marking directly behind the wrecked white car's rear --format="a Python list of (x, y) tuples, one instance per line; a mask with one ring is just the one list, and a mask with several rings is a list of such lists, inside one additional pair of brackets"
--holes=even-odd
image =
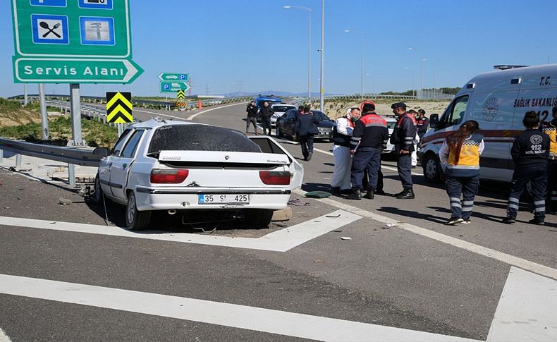
[(310, 221), (305, 221), (301, 224), (281, 229), (280, 231), (274, 231), (261, 238), (209, 236), (192, 233), (160, 233), (159, 231), (156, 233), (153, 233), (153, 231), (142, 231), (137, 233), (116, 226), (76, 224), (73, 222), (44, 221), (8, 216), (0, 216), (0, 225), (286, 252), (302, 243), (322, 236), (324, 233), (329, 233), (329, 231), (350, 224), (357, 219), (361, 219), (361, 216), (343, 210), (336, 210), (335, 212), (319, 216), (316, 219), (311, 219)]

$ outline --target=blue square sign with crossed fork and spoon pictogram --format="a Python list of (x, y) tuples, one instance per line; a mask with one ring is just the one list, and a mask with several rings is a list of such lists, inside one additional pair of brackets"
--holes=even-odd
[(31, 28), (35, 44), (68, 44), (68, 17), (32, 14)]

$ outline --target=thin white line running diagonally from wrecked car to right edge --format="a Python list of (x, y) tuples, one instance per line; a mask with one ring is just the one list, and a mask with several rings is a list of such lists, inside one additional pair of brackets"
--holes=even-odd
[[(302, 196), (305, 195), (305, 191), (300, 189), (293, 190), (293, 193), (298, 193), (299, 195)], [(491, 248), (486, 248), (481, 245), (476, 245), (475, 243), (469, 243), (465, 240), (453, 238), (452, 236), (446, 236), (445, 234), (437, 233), (435, 231), (430, 231), (429, 229), (426, 228), (421, 228), (418, 226), (414, 226), (412, 224), (406, 224), (396, 219), (391, 219), (387, 216), (375, 214), (373, 212), (368, 212), (365, 209), (353, 207), (350, 204), (341, 203), (336, 200), (331, 200), (329, 198), (318, 198), (316, 200), (318, 200), (319, 202), (323, 202), (325, 204), (329, 204), (333, 207), (337, 207), (338, 209), (343, 209), (347, 212), (352, 212), (354, 214), (363, 217), (369, 217), (370, 219), (374, 219), (375, 221), (379, 221), (384, 224), (396, 224), (399, 228), (402, 228), (405, 231), (410, 231), (420, 236), (425, 236), (427, 238), (431, 238), (433, 240), (446, 243), (448, 245), (453, 245), (455, 247), (462, 248), (463, 250), (475, 252), (476, 254), (483, 255), (484, 257), (496, 259), (500, 262), (504, 262), (506, 264), (513, 265), (515, 267), (520, 267), (521, 269), (532, 271), (534, 273), (549, 277), (551, 279), (557, 279), (557, 269), (552, 269), (551, 267), (547, 267), (542, 264), (537, 264), (536, 262), (531, 262), (529, 260), (522, 259), (520, 257), (515, 257), (514, 255), (509, 255), (503, 252), (499, 252), (498, 250), (492, 250)]]

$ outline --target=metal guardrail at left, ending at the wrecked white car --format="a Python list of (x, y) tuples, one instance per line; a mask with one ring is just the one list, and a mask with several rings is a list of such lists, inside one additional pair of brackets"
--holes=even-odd
[(0, 138), (0, 149), (16, 154), (82, 166), (99, 166), (99, 160), (103, 157), (93, 154), (92, 147), (42, 145), (7, 138)]

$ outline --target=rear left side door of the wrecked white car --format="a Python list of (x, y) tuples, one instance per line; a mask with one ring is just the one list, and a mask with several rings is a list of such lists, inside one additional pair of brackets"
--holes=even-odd
[(126, 199), (124, 191), (128, 183), (128, 173), (137, 153), (137, 145), (139, 145), (144, 132), (145, 130), (135, 130), (131, 133), (122, 152), (114, 157), (110, 165), (110, 188), (112, 195), (120, 200)]

